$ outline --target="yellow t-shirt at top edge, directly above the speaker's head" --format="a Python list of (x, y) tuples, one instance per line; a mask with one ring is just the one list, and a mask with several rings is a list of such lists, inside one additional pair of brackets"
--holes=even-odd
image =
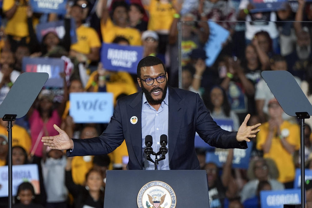
[(149, 11), (149, 22), (147, 29), (168, 33), (176, 10), (172, 3), (163, 3), (159, 0), (151, 0), (149, 6), (145, 7)]

